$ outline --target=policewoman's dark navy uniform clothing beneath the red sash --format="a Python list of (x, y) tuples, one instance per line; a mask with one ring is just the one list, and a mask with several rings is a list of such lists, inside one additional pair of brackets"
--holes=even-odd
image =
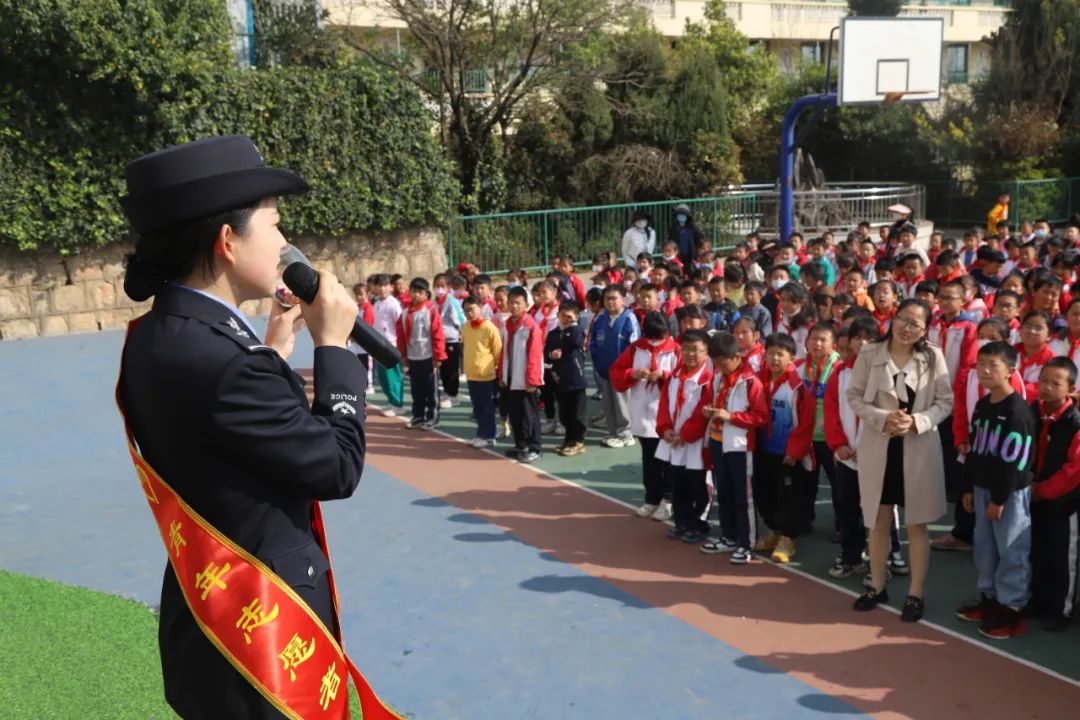
[[(313, 500), (348, 498), (360, 481), (366, 373), (356, 356), (315, 350), (309, 408), (303, 381), (242, 318), (167, 285), (129, 337), (123, 364), (121, 397), (147, 462), (336, 633), (310, 514)], [(180, 717), (282, 717), (203, 635), (168, 565), (158, 641), (165, 698)]]

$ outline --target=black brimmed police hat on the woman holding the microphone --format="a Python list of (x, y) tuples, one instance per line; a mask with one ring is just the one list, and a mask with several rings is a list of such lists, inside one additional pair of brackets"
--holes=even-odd
[(249, 137), (207, 137), (151, 152), (124, 168), (120, 204), (135, 232), (146, 233), (308, 191), (299, 175), (267, 167)]

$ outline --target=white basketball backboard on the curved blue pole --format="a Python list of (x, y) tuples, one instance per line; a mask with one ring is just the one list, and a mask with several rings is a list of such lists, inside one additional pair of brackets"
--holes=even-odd
[(840, 105), (941, 98), (941, 17), (845, 17), (840, 22)]

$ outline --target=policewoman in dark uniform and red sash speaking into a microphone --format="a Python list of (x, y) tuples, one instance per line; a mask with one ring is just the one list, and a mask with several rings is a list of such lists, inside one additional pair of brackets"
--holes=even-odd
[[(366, 372), (346, 349), (356, 305), (324, 272), (311, 304), (273, 303), (265, 338), (238, 309), (273, 295), (276, 199), (308, 185), (243, 136), (141, 157), (125, 176), (137, 239), (124, 290), (153, 305), (129, 327), (117, 399), (168, 553), (165, 698), (185, 719), (347, 717), (318, 501), (350, 497), (364, 466)], [(310, 407), (286, 363), (302, 325)]]

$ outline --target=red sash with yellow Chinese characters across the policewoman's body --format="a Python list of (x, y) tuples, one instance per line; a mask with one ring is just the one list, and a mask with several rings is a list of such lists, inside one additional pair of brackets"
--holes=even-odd
[[(140, 320), (129, 323), (129, 336)], [(150, 467), (127, 426), (121, 399), (123, 377), (121, 364), (117, 406), (127, 449), (184, 600), (206, 638), (287, 718), (348, 720), (347, 678), (351, 676), (364, 720), (402, 720), (382, 704), (345, 654), (340, 635), (332, 635), (293, 588), (203, 519)], [(329, 561), (318, 502), (312, 503), (311, 527)], [(334, 612), (340, 616), (333, 571), (327, 571), (326, 579)]]

